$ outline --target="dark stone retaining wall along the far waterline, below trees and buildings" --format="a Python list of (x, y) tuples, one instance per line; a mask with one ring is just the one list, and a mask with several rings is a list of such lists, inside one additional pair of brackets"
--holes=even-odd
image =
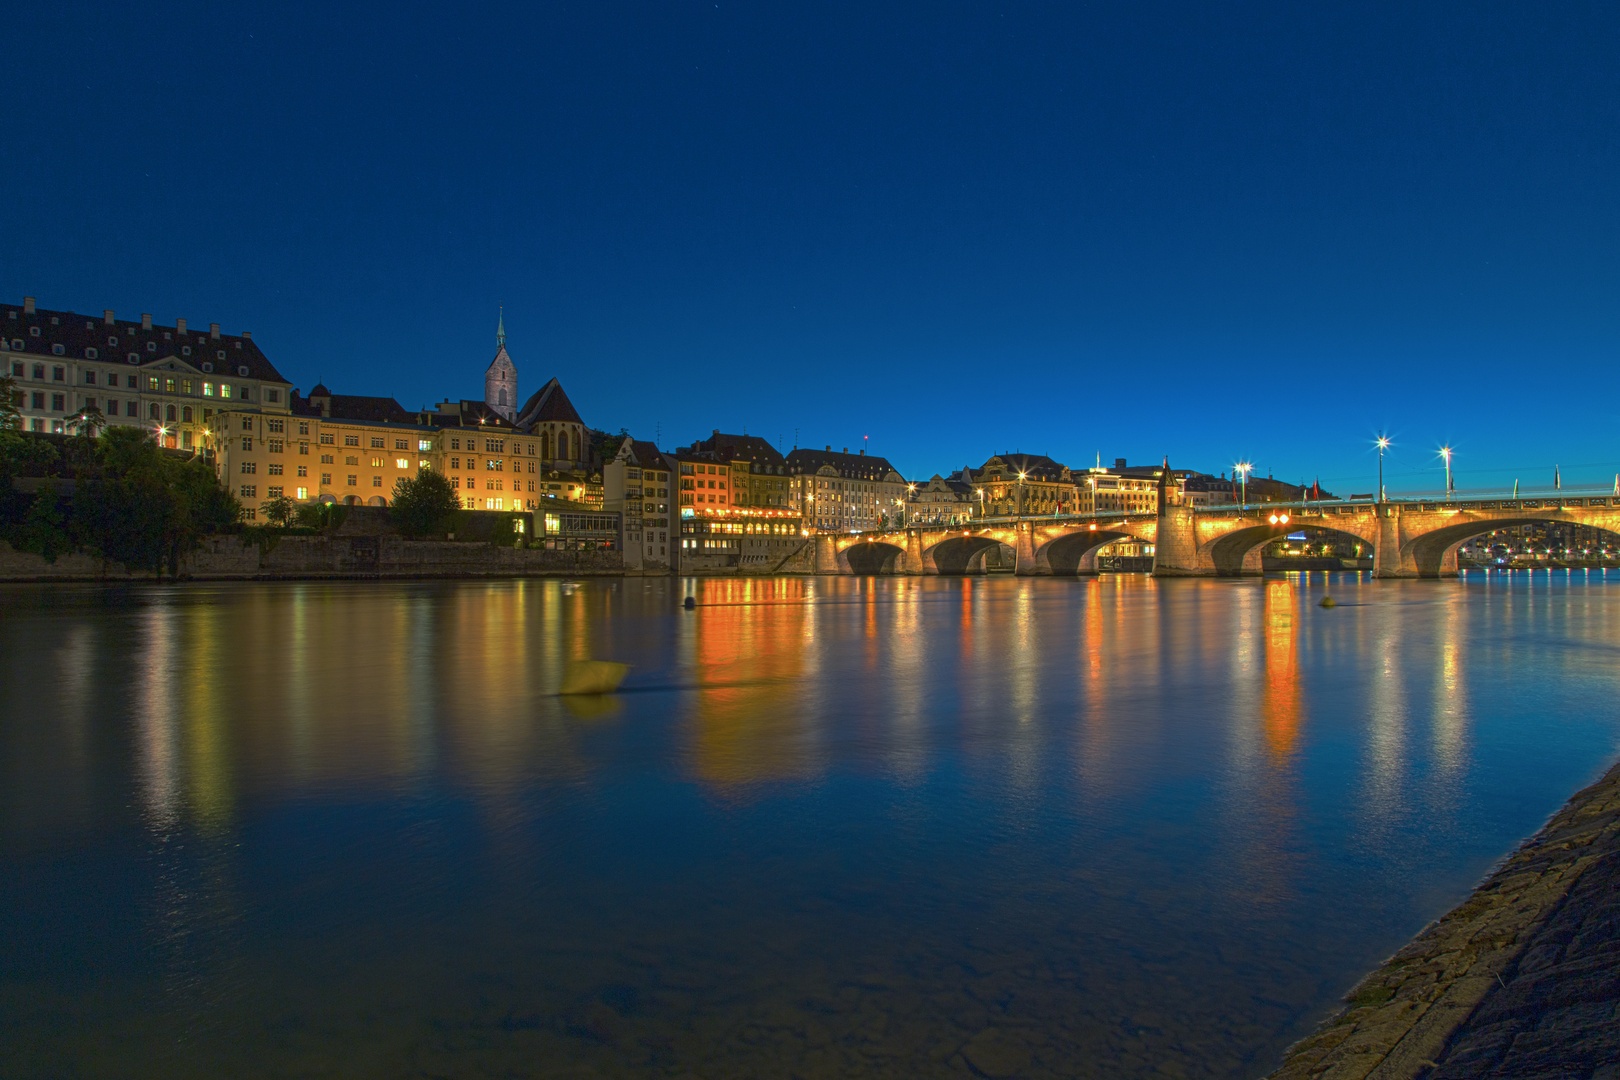
[[(211, 536), (180, 563), (193, 581), (301, 578), (522, 578), (619, 576), (619, 552), (497, 547), (465, 541), (416, 541), (400, 536)], [(151, 581), (89, 555), (55, 562), (0, 541), (0, 581)]]

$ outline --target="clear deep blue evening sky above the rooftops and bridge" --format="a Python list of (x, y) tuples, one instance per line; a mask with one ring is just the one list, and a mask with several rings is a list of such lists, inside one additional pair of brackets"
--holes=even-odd
[(1612, 3), (8, 19), (0, 293), (303, 389), (481, 397), (505, 304), (525, 393), (671, 447), (1620, 470)]

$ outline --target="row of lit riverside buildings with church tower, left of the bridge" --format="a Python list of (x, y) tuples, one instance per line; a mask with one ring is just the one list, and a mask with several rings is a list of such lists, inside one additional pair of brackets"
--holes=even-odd
[[(1000, 453), (980, 466), (907, 481), (886, 458), (847, 447), (782, 453), (714, 431), (687, 447), (590, 427), (557, 379), (526, 400), (497, 322), (484, 398), (407, 410), (392, 397), (303, 393), (253, 335), (151, 314), (118, 319), (0, 304), (0, 363), (26, 431), (141, 426), (160, 445), (209, 460), (254, 518), (266, 502), (386, 507), (397, 481), (434, 470), (467, 508), (533, 515), (548, 546), (620, 549), (645, 570), (770, 570), (807, 538), (985, 517), (1155, 513), (1162, 466), (1071, 468)], [(1189, 470), (1186, 502), (1225, 502), (1231, 481)], [(1254, 481), (1251, 481), (1254, 483)]]

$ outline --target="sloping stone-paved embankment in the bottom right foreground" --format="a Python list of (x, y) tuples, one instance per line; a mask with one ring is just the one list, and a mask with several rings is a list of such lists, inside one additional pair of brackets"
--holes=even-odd
[(1620, 766), (1346, 1001), (1273, 1080), (1620, 1080)]

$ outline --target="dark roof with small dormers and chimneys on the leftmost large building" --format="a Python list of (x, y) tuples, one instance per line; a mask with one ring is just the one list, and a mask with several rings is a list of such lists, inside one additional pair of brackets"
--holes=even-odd
[[(31, 327), (39, 327), (39, 337), (29, 334)], [(173, 325), (154, 322), (151, 330), (144, 330), (139, 319), (134, 322), (115, 319), (109, 325), (100, 313), (79, 314), (37, 308), (29, 314), (21, 304), (0, 304), (0, 335), (13, 345), (13, 350), (15, 343), (21, 342), (18, 351), (29, 356), (52, 356), (52, 345), (62, 345), (63, 356), (76, 359), (91, 359), (86, 350), (92, 348), (96, 363), (128, 363), (130, 353), (134, 353), (141, 364), (175, 356), (204, 372), (209, 369), (202, 364), (212, 364), (214, 374), (240, 377), (241, 368), (246, 368), (248, 379), (287, 384), (253, 338), (238, 334), (212, 337), (207, 325), (201, 330), (188, 325), (186, 332), (180, 334)], [(110, 338), (117, 338), (117, 343)]]

